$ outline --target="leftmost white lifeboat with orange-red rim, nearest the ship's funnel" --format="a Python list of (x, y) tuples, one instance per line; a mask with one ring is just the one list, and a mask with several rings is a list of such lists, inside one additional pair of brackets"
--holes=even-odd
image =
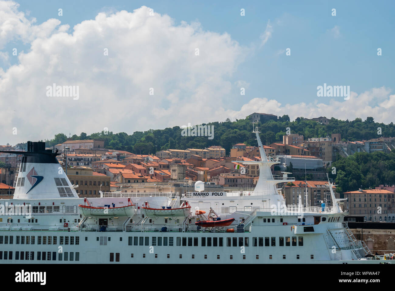
[(78, 209), (80, 213), (85, 217), (114, 217), (114, 216), (131, 217), (135, 213), (135, 207), (134, 207), (135, 205), (131, 204), (130, 198), (128, 198), (128, 205), (120, 206), (120, 207), (93, 207), (92, 205), (90, 205), (87, 198), (85, 198), (84, 201), (85, 204), (88, 205), (79, 204)]

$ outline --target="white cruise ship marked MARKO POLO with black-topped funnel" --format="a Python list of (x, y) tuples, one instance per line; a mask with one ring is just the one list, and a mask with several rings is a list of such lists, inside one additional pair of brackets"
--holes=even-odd
[[(254, 125), (253, 125), (254, 126)], [(260, 150), (253, 191), (100, 192), (80, 198), (43, 142), (28, 142), (21, 155), (13, 199), (0, 200), (0, 262), (3, 264), (142, 263), (365, 263), (383, 261), (356, 240), (332, 205), (286, 205), (273, 176), (278, 161)], [(7, 151), (9, 153), (9, 151)], [(238, 161), (240, 162), (240, 161)], [(307, 205), (306, 205), (307, 206)]]

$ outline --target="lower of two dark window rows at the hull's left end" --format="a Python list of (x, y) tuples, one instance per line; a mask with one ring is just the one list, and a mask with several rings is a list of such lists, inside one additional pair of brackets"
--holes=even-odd
[[(38, 251), (37, 261), (56, 261), (56, 251)], [(12, 260), (12, 251), (0, 251), (0, 260)], [(15, 260), (34, 260), (34, 251), (16, 251)], [(58, 261), (74, 261), (74, 252), (58, 253)], [(75, 252), (75, 261), (79, 261), (79, 252)]]

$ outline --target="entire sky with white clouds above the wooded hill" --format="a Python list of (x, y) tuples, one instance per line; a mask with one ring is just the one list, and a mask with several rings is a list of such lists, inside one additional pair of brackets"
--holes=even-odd
[(394, 6), (0, 0), (0, 145), (253, 112), (393, 122)]

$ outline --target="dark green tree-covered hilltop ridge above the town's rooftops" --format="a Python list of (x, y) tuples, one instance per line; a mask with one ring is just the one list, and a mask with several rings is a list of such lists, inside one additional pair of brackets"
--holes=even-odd
[[(105, 134), (104, 131), (90, 135), (81, 133), (73, 135), (71, 139), (103, 139), (105, 148), (127, 150), (138, 154), (155, 153), (167, 148), (206, 148), (212, 145), (223, 146), (228, 154), (231, 146), (236, 143), (245, 143), (249, 146), (257, 145), (255, 135), (252, 133), (251, 120), (248, 118), (234, 122), (227, 119), (225, 122), (211, 122), (202, 125), (214, 126), (213, 139), (182, 136), (182, 129), (179, 126), (135, 131), (131, 135), (125, 132)], [(266, 145), (276, 141), (282, 142), (282, 135), (286, 134), (287, 127), (290, 127), (291, 133), (303, 135), (305, 139), (330, 136), (331, 133), (341, 133), (343, 140), (350, 141), (395, 136), (395, 126), (392, 122), (391, 124), (376, 123), (372, 117), (368, 117), (365, 121), (362, 121), (361, 118), (356, 118), (353, 121), (331, 118), (329, 124), (324, 125), (303, 117), (298, 117), (290, 122), (288, 115), (284, 115), (276, 121), (260, 122), (258, 127), (261, 131), (262, 142)], [(377, 134), (378, 127), (381, 127), (382, 135)], [(66, 141), (66, 139), (68, 138), (64, 133), (58, 133), (53, 139), (45, 140), (45, 142), (47, 146), (53, 146)]]

